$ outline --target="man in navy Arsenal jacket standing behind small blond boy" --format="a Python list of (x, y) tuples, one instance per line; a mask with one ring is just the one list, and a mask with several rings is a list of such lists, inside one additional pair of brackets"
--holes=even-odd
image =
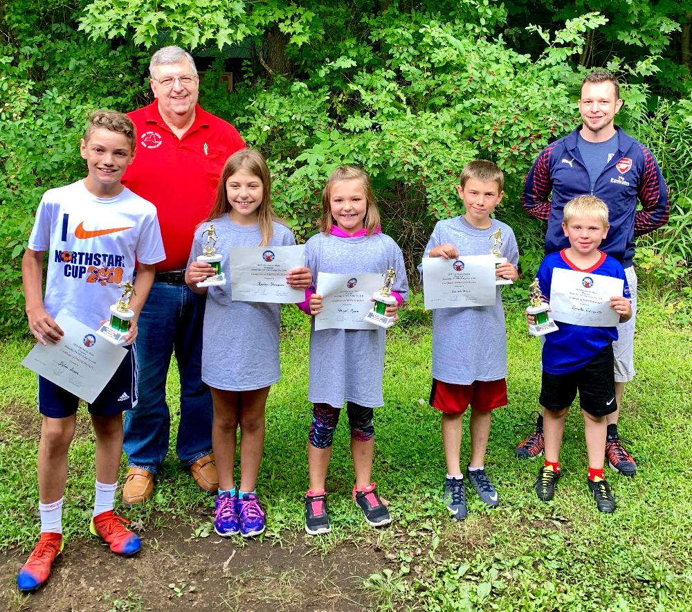
[[(653, 154), (614, 124), (621, 106), (620, 87), (613, 75), (603, 71), (588, 75), (581, 84), (581, 127), (540, 152), (527, 175), (522, 205), (532, 217), (547, 221), (546, 254), (570, 246), (561, 227), (563, 208), (570, 199), (594, 195), (608, 205), (610, 230), (599, 249), (625, 269), (632, 294), (632, 318), (617, 326), (619, 337), (612, 345), (618, 410), (608, 415), (605, 453), (610, 467), (634, 476), (637, 464), (617, 435), (624, 384), (635, 376), (637, 277), (632, 257), (635, 236), (668, 221), (668, 190)], [(637, 201), (641, 210), (637, 210)], [(534, 458), (542, 453), (543, 417), (539, 416), (536, 431), (518, 445), (516, 455)]]

